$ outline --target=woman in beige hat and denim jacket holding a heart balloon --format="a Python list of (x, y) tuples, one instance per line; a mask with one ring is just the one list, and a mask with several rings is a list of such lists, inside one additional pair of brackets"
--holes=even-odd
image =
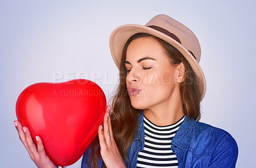
[[(110, 49), (120, 83), (81, 167), (236, 166), (234, 138), (198, 122), (206, 85), (200, 45), (188, 27), (157, 15), (145, 26), (115, 29)], [(15, 124), (35, 164), (56, 167), (40, 137), (36, 150), (28, 129)]]

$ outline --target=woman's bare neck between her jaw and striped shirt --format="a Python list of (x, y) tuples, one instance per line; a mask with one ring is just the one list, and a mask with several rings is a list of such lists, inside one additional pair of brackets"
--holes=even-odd
[(167, 99), (161, 104), (156, 104), (147, 109), (144, 109), (144, 115), (150, 122), (158, 125), (172, 125), (184, 116), (180, 93), (173, 93), (170, 99)]

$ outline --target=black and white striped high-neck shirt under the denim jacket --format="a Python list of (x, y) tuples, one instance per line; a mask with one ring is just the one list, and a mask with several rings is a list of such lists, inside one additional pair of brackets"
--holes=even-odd
[(145, 146), (138, 153), (137, 167), (179, 167), (177, 157), (171, 150), (171, 142), (184, 118), (172, 125), (157, 126), (143, 117)]

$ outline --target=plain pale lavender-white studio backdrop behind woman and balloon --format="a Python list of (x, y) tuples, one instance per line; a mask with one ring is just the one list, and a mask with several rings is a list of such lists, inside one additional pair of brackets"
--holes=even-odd
[[(87, 78), (107, 99), (116, 87), (111, 32), (164, 13), (188, 26), (202, 47), (207, 80), (202, 120), (225, 129), (239, 146), (237, 167), (255, 154), (255, 2), (0, 1), (0, 167), (36, 167), (13, 125), (20, 92), (33, 83)], [(77, 164), (69, 167), (79, 167)], [(68, 167), (68, 168), (69, 168)]]

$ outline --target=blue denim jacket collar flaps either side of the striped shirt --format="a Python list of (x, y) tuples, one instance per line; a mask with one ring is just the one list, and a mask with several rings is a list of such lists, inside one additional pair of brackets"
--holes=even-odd
[[(134, 140), (140, 140), (142, 142), (142, 148), (144, 148), (145, 142), (143, 116), (143, 111), (141, 111), (141, 114), (138, 117), (138, 134), (136, 134), (134, 137)], [(188, 150), (191, 136), (193, 135), (193, 131), (195, 130), (195, 123), (196, 122), (193, 118), (188, 118), (188, 116), (185, 115), (184, 121), (182, 122), (175, 136), (172, 139), (172, 144), (182, 150)]]

